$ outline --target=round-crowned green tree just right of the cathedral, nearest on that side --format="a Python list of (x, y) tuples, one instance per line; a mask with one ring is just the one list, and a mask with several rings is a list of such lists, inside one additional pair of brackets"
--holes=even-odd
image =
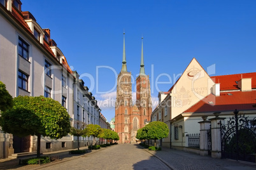
[(147, 128), (147, 139), (160, 140), (162, 138), (167, 138), (169, 134), (169, 128), (164, 122), (150, 122), (145, 128)]

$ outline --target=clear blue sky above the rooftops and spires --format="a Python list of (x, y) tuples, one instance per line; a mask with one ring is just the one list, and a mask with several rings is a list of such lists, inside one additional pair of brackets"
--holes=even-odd
[[(98, 101), (115, 100), (122, 66), (123, 32), (127, 70), (139, 73), (141, 36), (152, 98), (167, 91), (192, 58), (211, 75), (255, 72), (256, 1), (22, 1), (77, 70)], [(153, 69), (152, 69), (153, 68)], [(155, 86), (155, 81), (169, 81)], [(89, 78), (89, 77), (93, 77)], [(153, 83), (152, 83), (153, 82)], [(97, 84), (97, 86), (96, 86)], [(135, 84), (132, 85), (133, 91)], [(114, 89), (113, 89), (114, 88)], [(101, 92), (108, 92), (102, 94)], [(135, 92), (135, 91), (134, 91)], [(113, 107), (102, 108), (110, 121)]]

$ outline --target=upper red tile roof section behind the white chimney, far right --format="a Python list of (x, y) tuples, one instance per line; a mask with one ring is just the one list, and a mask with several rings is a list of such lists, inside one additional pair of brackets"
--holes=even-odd
[(243, 78), (252, 78), (252, 88), (256, 88), (256, 72), (232, 75), (217, 75), (211, 77), (215, 83), (220, 83), (220, 91), (239, 89), (236, 81)]

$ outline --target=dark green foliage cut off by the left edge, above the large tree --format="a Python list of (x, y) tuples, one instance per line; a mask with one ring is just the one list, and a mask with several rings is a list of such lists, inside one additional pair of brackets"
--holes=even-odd
[(4, 112), (13, 107), (13, 98), (6, 90), (6, 86), (0, 81), (0, 110)]

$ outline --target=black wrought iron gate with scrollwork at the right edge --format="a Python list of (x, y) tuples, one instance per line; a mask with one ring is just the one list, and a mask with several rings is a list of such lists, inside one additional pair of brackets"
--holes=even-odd
[(234, 114), (227, 124), (220, 121), (222, 157), (255, 162), (256, 117), (248, 120), (245, 115), (238, 115), (237, 110)]

